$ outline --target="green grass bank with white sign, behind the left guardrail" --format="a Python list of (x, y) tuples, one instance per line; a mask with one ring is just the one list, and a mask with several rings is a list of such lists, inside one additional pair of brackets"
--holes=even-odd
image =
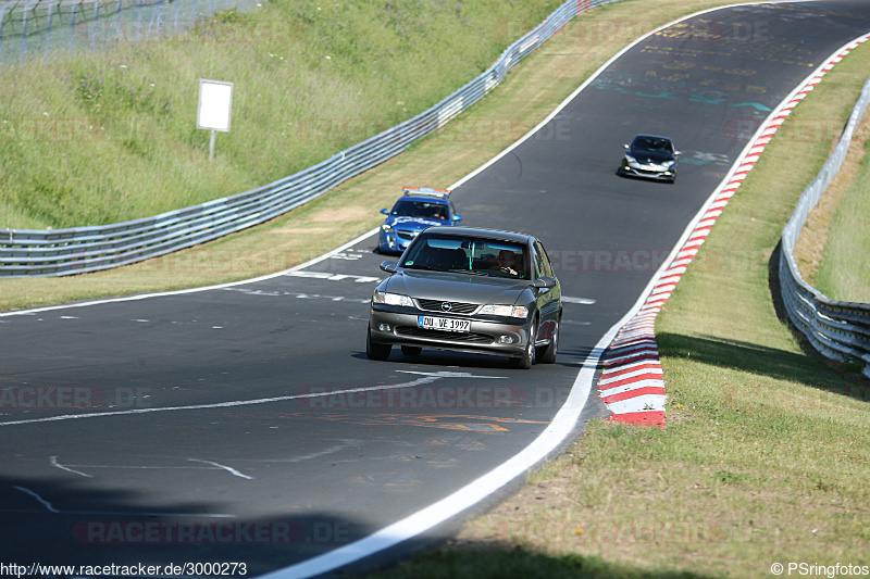
[[(135, 219), (253, 189), (424, 111), (556, 0), (275, 0), (190, 33), (0, 70), (0, 227)], [(196, 128), (200, 78), (233, 126)]]

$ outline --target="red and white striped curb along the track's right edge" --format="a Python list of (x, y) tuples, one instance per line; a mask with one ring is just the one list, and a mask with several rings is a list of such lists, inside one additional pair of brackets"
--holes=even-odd
[(710, 197), (705, 209), (695, 218), (671, 261), (660, 270), (646, 299), (634, 316), (617, 332), (601, 357), (601, 376), (598, 379), (599, 398), (610, 411), (610, 420), (625, 424), (664, 427), (664, 378), (656, 344), (656, 317), (673, 293), (688, 264), (698, 253), (716, 221), (737, 188), (753, 169), (773, 135), (804, 97), (816, 88), (822, 77), (858, 46), (870, 38), (867, 34), (853, 40), (816, 70), (793, 91), (762, 128), (743, 150), (731, 174)]

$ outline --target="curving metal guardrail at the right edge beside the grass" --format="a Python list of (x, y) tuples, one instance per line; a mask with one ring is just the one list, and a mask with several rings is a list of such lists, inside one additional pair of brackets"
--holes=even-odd
[(795, 212), (782, 232), (780, 291), (792, 323), (819, 352), (841, 362), (860, 361), (862, 374), (870, 378), (870, 304), (837, 302), (804, 281), (795, 262), (794, 249), (810, 211), (836, 176), (852, 142), (853, 134), (870, 104), (870, 78), (863, 86), (846, 129), (831, 158), (816, 179), (804, 190)]

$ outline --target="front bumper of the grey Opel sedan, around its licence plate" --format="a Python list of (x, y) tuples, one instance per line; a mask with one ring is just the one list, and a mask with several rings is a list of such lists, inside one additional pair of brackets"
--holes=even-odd
[[(421, 315), (469, 319), (469, 332), (431, 330), (419, 327)], [(371, 339), (375, 343), (413, 345), (519, 356), (525, 351), (532, 320), (489, 316), (459, 316), (413, 311), (395, 306), (372, 306), (369, 315)], [(511, 343), (505, 343), (510, 340)]]

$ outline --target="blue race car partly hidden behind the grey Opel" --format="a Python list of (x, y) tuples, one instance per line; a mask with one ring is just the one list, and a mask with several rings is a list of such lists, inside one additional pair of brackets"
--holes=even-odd
[(450, 191), (431, 187), (405, 187), (405, 194), (393, 209), (381, 210), (387, 216), (381, 225), (377, 250), (401, 253), (427, 227), (456, 225), (462, 217), (456, 214)]

